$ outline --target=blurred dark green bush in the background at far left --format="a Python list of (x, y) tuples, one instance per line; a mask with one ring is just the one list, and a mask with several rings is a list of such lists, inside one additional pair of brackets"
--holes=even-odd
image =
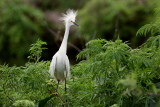
[(29, 44), (43, 33), (44, 15), (23, 0), (1, 0), (0, 16), (1, 60), (21, 65), (29, 54)]

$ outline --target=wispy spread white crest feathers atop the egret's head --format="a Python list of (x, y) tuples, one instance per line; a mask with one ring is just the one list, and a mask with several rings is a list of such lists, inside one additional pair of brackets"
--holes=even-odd
[(77, 16), (77, 11), (74, 11), (72, 9), (68, 9), (66, 11), (66, 14), (62, 14), (63, 16), (60, 18), (60, 20), (67, 22), (68, 20), (72, 19), (75, 21), (76, 16)]

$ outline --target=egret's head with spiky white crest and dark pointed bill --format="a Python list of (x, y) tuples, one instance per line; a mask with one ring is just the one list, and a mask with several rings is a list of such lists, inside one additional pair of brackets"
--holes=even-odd
[(68, 24), (69, 26), (76, 25), (80, 27), (76, 22), (76, 16), (77, 16), (77, 11), (68, 9), (66, 14), (63, 14), (63, 16), (60, 18), (60, 20), (64, 21), (65, 24)]

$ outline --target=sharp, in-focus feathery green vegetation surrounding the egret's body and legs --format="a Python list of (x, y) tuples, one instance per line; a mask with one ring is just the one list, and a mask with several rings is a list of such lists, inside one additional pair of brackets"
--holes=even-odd
[[(159, 9), (156, 10), (159, 12)], [(132, 49), (119, 38), (91, 40), (72, 66), (67, 80), (67, 94), (48, 73), (49, 61), (39, 61), (42, 45), (38, 40), (30, 48), (30, 60), (25, 66), (1, 65), (0, 105), (7, 106), (160, 106), (160, 36), (157, 21), (139, 29), (137, 35), (151, 36), (139, 48)]]

